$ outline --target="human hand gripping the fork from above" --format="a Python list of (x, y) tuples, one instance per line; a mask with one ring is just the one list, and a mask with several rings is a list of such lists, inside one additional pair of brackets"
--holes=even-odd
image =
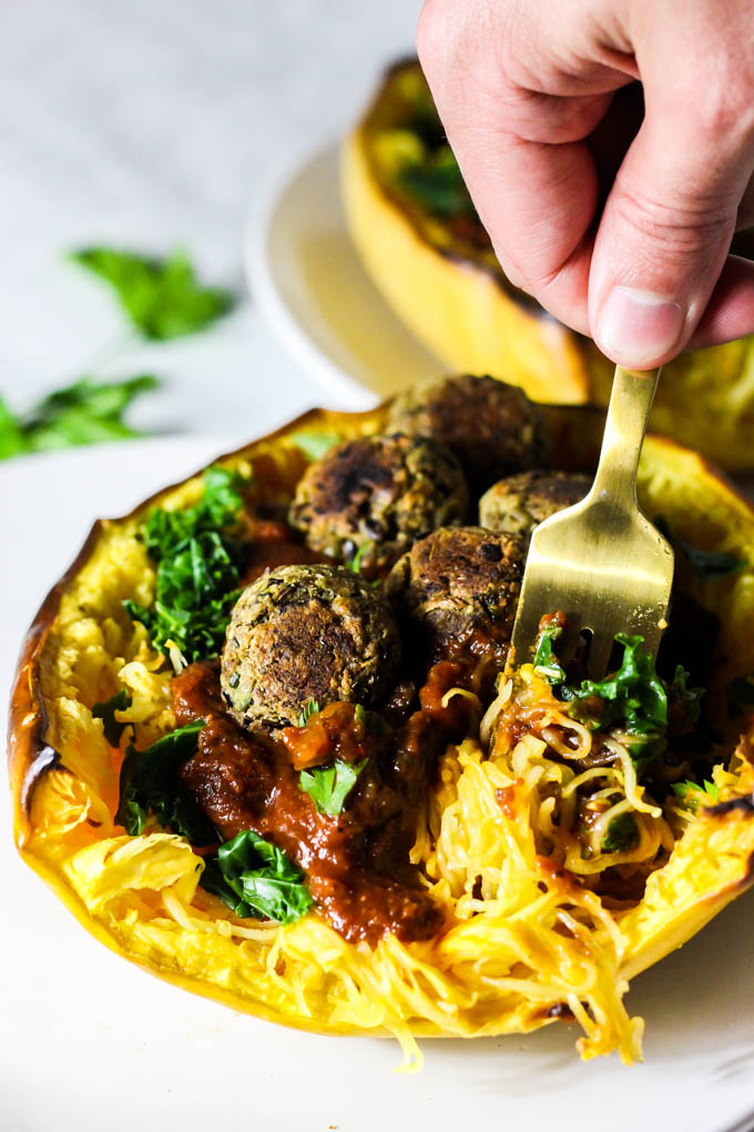
[(634, 369), (754, 331), (751, 0), (426, 0), (418, 51), (513, 284)]

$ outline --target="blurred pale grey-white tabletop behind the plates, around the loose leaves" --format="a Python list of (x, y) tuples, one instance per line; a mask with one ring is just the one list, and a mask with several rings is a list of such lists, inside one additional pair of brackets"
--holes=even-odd
[[(5, 0), (0, 393), (23, 408), (94, 366), (165, 388), (133, 420), (229, 437), (322, 401), (244, 294), (211, 333), (145, 346), (62, 260), (184, 246), (244, 291), (242, 232), (270, 172), (353, 119), (411, 50), (419, 0)], [(328, 400), (327, 396), (324, 400)], [(331, 398), (330, 398), (331, 400)]]

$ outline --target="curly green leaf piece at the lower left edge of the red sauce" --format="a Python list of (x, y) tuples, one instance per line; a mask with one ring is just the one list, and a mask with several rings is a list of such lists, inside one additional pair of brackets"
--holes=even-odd
[(200, 883), (242, 918), (293, 924), (312, 906), (302, 871), (252, 830), (243, 830), (205, 859)]

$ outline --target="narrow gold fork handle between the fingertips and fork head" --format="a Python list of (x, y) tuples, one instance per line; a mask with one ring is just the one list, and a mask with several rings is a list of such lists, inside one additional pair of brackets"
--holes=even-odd
[(615, 367), (592, 498), (609, 498), (618, 506), (635, 501), (639, 457), (659, 376), (659, 369)]

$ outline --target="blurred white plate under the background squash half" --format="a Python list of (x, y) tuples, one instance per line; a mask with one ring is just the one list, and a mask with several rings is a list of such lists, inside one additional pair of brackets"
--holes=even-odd
[(362, 267), (340, 200), (337, 145), (272, 178), (248, 224), (245, 265), (262, 314), (333, 403), (369, 409), (444, 372)]

